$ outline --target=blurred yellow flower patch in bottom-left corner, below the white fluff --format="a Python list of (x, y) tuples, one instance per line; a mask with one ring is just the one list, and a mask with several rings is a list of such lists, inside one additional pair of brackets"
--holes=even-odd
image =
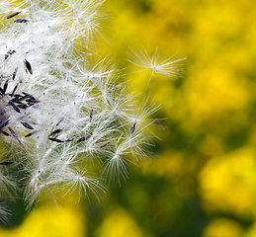
[(76, 207), (42, 205), (30, 212), (21, 226), (0, 229), (0, 236), (85, 237), (84, 216)]

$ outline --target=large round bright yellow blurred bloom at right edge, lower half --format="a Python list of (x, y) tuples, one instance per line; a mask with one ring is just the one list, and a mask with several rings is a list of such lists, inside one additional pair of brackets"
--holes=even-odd
[(252, 148), (213, 158), (199, 180), (207, 210), (232, 211), (245, 217), (256, 211), (256, 161)]

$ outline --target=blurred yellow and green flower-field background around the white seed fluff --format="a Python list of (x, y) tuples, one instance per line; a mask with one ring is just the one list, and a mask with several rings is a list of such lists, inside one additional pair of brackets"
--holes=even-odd
[[(12, 206), (0, 236), (256, 236), (256, 3), (107, 0), (102, 42), (124, 73), (129, 46), (187, 57), (183, 77), (154, 77), (150, 100), (166, 118), (154, 159), (128, 165), (129, 179), (98, 202)], [(141, 93), (146, 73), (128, 74)]]

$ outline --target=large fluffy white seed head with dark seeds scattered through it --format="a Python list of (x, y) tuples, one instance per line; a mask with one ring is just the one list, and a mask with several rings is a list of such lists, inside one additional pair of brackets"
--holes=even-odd
[[(128, 157), (145, 155), (148, 116), (157, 109), (134, 113), (114, 68), (92, 59), (103, 2), (1, 1), (2, 197), (22, 187), (30, 208), (42, 194), (97, 196), (105, 192), (101, 181), (127, 178)], [(22, 174), (18, 184), (12, 169)]]

